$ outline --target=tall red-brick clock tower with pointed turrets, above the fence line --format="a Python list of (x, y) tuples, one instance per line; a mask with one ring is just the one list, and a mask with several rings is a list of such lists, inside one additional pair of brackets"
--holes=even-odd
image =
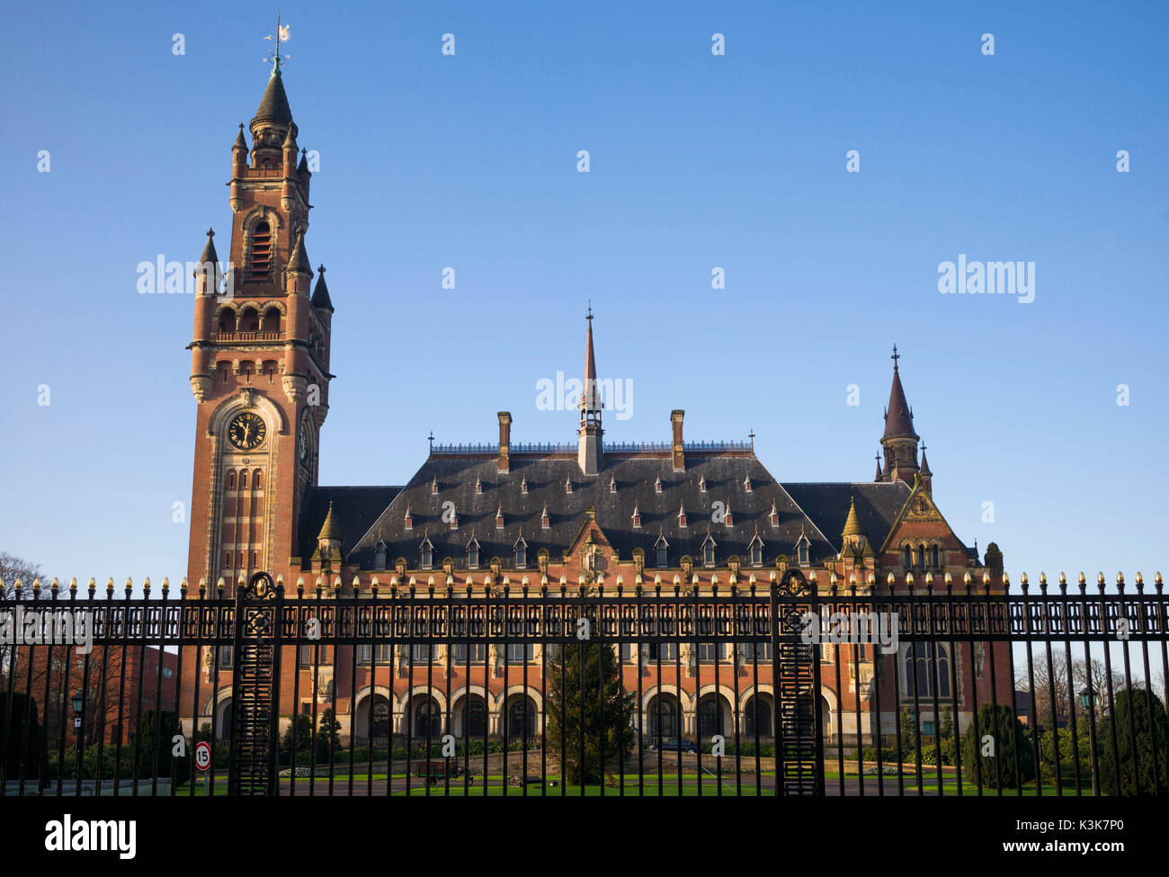
[(191, 389), (198, 402), (187, 580), (227, 593), (290, 569), (328, 410), (333, 305), (305, 250), (309, 181), (281, 72), (231, 146), (229, 258), (208, 230), (196, 276)]

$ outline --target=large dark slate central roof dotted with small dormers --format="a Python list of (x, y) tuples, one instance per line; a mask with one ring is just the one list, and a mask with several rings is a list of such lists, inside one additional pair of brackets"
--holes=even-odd
[[(750, 476), (752, 491), (745, 478)], [(565, 490), (570, 478), (573, 491)], [(662, 479), (662, 492), (655, 483)], [(476, 481), (483, 492), (476, 492)], [(610, 479), (616, 492), (610, 492)], [(705, 479), (706, 492), (699, 482)], [(431, 493), (437, 481), (438, 492)], [(527, 493), (521, 491), (526, 481)], [(772, 502), (779, 513), (779, 526), (770, 524)], [(443, 523), (443, 504), (455, 503), (458, 530)], [(729, 505), (732, 526), (712, 520), (713, 503)], [(641, 529), (634, 527), (634, 505), (641, 515)], [(547, 504), (549, 529), (541, 526), (541, 512)], [(707, 527), (715, 543), (715, 559), (725, 566), (738, 554), (749, 561), (749, 545), (756, 527), (763, 543), (763, 565), (770, 566), (779, 554), (793, 557), (801, 533), (810, 541), (812, 562), (837, 553), (815, 524), (796, 506), (791, 497), (752, 454), (687, 454), (686, 471), (673, 472), (669, 453), (620, 456), (608, 454), (597, 476), (581, 475), (575, 455), (525, 456), (513, 454), (511, 472), (498, 471), (496, 457), (487, 455), (433, 455), (415, 474), (401, 493), (386, 507), (360, 541), (343, 546), (346, 560), (364, 569), (374, 568), (374, 547), (380, 539), (387, 544), (387, 564), (395, 558), (417, 566), (419, 547), (424, 537), (434, 545), (434, 565), (445, 557), (457, 566), (466, 562), (466, 545), (473, 532), (479, 543), (480, 566), (499, 557), (505, 567), (514, 562), (514, 544), (523, 529), (527, 543), (528, 566), (535, 566), (537, 552), (547, 548), (558, 559), (572, 547), (584, 524), (586, 509), (596, 510), (596, 522), (622, 560), (632, 557), (634, 548), (646, 554), (646, 567), (655, 566), (658, 533), (669, 543), (667, 561), (677, 566), (684, 554), (701, 566), (701, 546)], [(503, 509), (504, 527), (496, 529), (496, 511)], [(687, 526), (682, 527), (678, 510), (684, 506)], [(339, 504), (339, 507), (344, 509)], [(413, 530), (406, 530), (406, 510), (410, 509)], [(848, 511), (845, 497), (844, 512)]]

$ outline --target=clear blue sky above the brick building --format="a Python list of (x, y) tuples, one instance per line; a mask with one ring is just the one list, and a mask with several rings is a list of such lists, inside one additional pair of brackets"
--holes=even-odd
[[(580, 373), (592, 299), (601, 377), (634, 388), (611, 440), (664, 441), (685, 408), (687, 438), (753, 427), (781, 481), (870, 479), (897, 343), (968, 544), (997, 541), (1016, 578), (1151, 579), (1167, 7), (776, 6), (281, 5), (337, 308), (321, 483), (404, 483), (428, 430), (493, 441), (500, 409), (516, 441), (572, 441), (535, 385)], [(277, 9), (2, 9), (0, 550), (178, 580), (193, 302), (139, 295), (136, 267), (229, 228)], [(1035, 301), (940, 295), (959, 254), (1035, 262)]]

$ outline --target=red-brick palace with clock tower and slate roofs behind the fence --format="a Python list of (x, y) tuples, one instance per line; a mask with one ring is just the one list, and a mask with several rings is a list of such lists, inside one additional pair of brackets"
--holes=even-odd
[[(231, 147), (234, 295), (219, 295), (212, 270), (198, 272), (191, 344), (198, 401), (193, 585), (214, 587), (222, 579), (230, 594), (237, 581), (267, 571), (283, 576), (293, 595), (298, 581), (310, 593), (320, 582), (332, 594), (339, 581), (344, 596), (354, 587), (367, 594), (375, 576), (382, 587), (452, 583), (478, 594), (498, 587), (516, 593), (544, 581), (575, 586), (583, 575), (602, 587), (680, 582), (708, 593), (729, 585), (767, 587), (790, 567), (815, 576), (824, 593), (833, 575), (842, 586), (856, 576), (862, 593), (890, 574), (898, 588), (907, 574), (941, 580), (948, 573), (957, 582), (970, 574), (981, 582), (990, 572), (998, 581), (1002, 554), (994, 544), (980, 560), (934, 503), (933, 474), (919, 448), (895, 348), (884, 453), (872, 482), (783, 482), (755, 456), (752, 442), (687, 442), (680, 409), (671, 414), (669, 431), (663, 423), (667, 441), (607, 443), (590, 312), (574, 442), (517, 443), (511, 414), (500, 412), (491, 424), (498, 426), (497, 444), (433, 447), (404, 485), (319, 485), (334, 309), (324, 267), (313, 271), (307, 256), (311, 173), (303, 151), (298, 161), (299, 131), (278, 58), (249, 130), (250, 149), (242, 124)], [(219, 261), (212, 235), (205, 267)], [(980, 703), (990, 699), (981, 652), (909, 655), (902, 647), (880, 657), (871, 648), (822, 648), (822, 732), (832, 741), (856, 734), (858, 712), (862, 732), (871, 732), (874, 668), (886, 733), (897, 721), (890, 707), (894, 674), (902, 703), (916, 674), (925, 705), (933, 699), (931, 662), (946, 700), (956, 662), (960, 727), (968, 720), (973, 685)], [(316, 688), (304, 661), (295, 668), (285, 662), (283, 721), (292, 712), (311, 712), (314, 699), (318, 711), (331, 705), (336, 691), (343, 739), (357, 744), (364, 743), (371, 711), (375, 738), (424, 736), (428, 727), (456, 737), (477, 737), (484, 727), (491, 734), (505, 727), (511, 736), (530, 733), (544, 709), (538, 649), (476, 652), (470, 672), (461, 665), (465, 655), (447, 655), (444, 648), (434, 655), (359, 649), (355, 675), (347, 648), (336, 655), (326, 649)], [(761, 737), (772, 737), (769, 654), (759, 656), (756, 684), (754, 660), (745, 650), (682, 650), (660, 656), (660, 678), (651, 649), (622, 651), (627, 690), (639, 683), (644, 692), (645, 727), (660, 726), (665, 737), (699, 731), (708, 737), (729, 733), (739, 721), (753, 736), (758, 721)], [(217, 670), (210, 650), (184, 660), (184, 703), (193, 700), (194, 675), (203, 674), (195, 721), (214, 714), (221, 736), (230, 710), (227, 660), (221, 656)], [(1005, 652), (997, 667), (998, 690), (1008, 691)], [(292, 703), (295, 674), (300, 674), (299, 703)], [(216, 678), (217, 688), (207, 684)], [(438, 682), (428, 686), (428, 678)], [(922, 711), (920, 718), (928, 732), (940, 717)]]

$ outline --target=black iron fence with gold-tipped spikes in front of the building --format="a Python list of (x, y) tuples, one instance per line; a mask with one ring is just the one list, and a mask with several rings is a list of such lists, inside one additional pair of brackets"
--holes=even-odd
[(1003, 576), (0, 602), (5, 795), (1162, 795), (1169, 600)]

